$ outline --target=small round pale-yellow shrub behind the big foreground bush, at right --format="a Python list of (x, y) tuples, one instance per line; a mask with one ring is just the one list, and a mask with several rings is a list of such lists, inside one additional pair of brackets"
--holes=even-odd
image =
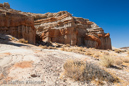
[(111, 56), (103, 56), (100, 59), (100, 64), (105, 67), (110, 67), (114, 63), (114, 58), (112, 58)]

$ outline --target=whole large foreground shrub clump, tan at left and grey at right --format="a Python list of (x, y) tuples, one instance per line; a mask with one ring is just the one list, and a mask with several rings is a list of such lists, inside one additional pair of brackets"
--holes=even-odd
[(116, 82), (118, 78), (98, 65), (81, 60), (67, 60), (63, 65), (64, 75), (78, 81), (95, 79)]

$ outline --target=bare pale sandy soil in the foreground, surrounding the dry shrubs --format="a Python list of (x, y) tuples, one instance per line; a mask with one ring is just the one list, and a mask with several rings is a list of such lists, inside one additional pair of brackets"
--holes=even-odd
[[(114, 51), (97, 51), (114, 54)], [(116, 55), (126, 56), (127, 54)], [(90, 56), (73, 52), (42, 49), (31, 44), (17, 42), (1, 43), (0, 84), (1, 86), (96, 86), (93, 83), (78, 82), (69, 78), (60, 79), (62, 66), (67, 59), (81, 59), (98, 63), (98, 60)], [(129, 82), (128, 69), (128, 66), (123, 66), (121, 70), (107, 68), (126, 83)]]

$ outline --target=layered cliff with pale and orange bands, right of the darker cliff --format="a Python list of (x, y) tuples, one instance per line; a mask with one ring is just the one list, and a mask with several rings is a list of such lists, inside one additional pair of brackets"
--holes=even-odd
[(110, 34), (88, 19), (73, 17), (67, 11), (33, 16), (38, 40), (111, 49)]

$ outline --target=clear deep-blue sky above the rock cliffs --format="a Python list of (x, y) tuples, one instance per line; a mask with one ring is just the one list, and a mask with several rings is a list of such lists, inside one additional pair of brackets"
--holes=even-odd
[(114, 47), (129, 46), (129, 0), (0, 0), (32, 13), (68, 11), (90, 19), (111, 34)]

